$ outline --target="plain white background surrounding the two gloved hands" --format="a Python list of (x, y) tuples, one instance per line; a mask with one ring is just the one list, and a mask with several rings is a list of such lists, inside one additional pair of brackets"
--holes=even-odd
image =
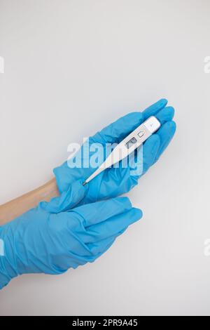
[(0, 0), (0, 204), (159, 98), (177, 133), (129, 196), (144, 218), (102, 258), (25, 275), (0, 315), (210, 315), (209, 0)]

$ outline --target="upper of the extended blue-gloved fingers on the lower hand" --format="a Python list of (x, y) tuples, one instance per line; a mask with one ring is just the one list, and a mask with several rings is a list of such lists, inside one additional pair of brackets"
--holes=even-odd
[(102, 223), (113, 216), (125, 213), (132, 209), (132, 204), (128, 197), (116, 197), (94, 204), (85, 204), (73, 209), (83, 219), (83, 226), (90, 227), (97, 223)]

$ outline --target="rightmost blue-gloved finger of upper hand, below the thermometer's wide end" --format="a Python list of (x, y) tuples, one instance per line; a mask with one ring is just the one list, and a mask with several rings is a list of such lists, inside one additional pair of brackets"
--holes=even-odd
[[(176, 132), (176, 123), (174, 121), (167, 121), (156, 133), (160, 138), (160, 147), (156, 154), (155, 161), (158, 161), (161, 154), (165, 151), (169, 143), (171, 142)], [(155, 162), (154, 161), (154, 162)]]

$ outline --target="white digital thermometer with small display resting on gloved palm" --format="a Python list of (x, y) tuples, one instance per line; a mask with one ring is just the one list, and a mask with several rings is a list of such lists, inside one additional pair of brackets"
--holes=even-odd
[(127, 136), (122, 142), (120, 142), (115, 149), (109, 154), (104, 163), (94, 171), (94, 173), (85, 180), (83, 185), (89, 183), (93, 178), (99, 175), (105, 169), (108, 169), (112, 165), (123, 160), (129, 156), (137, 147), (139, 147), (144, 141), (146, 141), (153, 133), (158, 131), (161, 124), (155, 117), (150, 117), (143, 124), (137, 127), (132, 133)]

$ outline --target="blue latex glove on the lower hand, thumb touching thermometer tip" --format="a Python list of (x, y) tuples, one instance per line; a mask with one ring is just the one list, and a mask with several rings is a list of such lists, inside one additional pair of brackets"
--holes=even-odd
[(94, 261), (142, 216), (127, 197), (71, 209), (86, 190), (75, 182), (61, 197), (0, 227), (0, 289), (18, 275), (57, 275)]

